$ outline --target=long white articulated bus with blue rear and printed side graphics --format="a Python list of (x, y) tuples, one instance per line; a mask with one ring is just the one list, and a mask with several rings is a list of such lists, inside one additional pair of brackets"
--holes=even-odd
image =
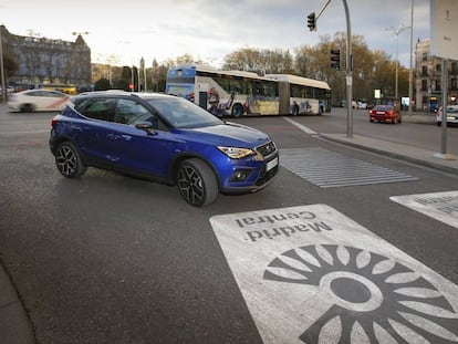
[(325, 82), (289, 74), (179, 66), (167, 72), (166, 93), (186, 97), (217, 116), (322, 114), (331, 111)]

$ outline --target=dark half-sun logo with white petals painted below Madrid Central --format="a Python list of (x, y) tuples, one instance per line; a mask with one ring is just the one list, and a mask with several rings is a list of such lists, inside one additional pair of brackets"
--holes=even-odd
[(332, 304), (305, 343), (457, 343), (458, 314), (425, 278), (387, 257), (335, 246), (283, 252), (264, 280), (315, 285)]

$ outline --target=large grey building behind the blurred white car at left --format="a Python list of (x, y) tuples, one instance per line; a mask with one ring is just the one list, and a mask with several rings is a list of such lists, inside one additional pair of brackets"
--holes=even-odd
[(8, 84), (91, 84), (91, 49), (81, 34), (69, 42), (11, 34), (4, 25), (0, 30), (3, 56), (18, 66), (8, 74)]

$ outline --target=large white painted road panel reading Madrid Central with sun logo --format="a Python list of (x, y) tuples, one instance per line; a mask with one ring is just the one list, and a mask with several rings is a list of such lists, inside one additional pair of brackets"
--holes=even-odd
[(210, 223), (264, 343), (458, 342), (458, 286), (326, 205)]

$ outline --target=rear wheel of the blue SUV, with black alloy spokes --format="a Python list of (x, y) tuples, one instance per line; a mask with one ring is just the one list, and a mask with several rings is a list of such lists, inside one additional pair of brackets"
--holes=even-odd
[(55, 166), (66, 178), (79, 178), (86, 171), (80, 153), (71, 142), (63, 142), (55, 149)]

